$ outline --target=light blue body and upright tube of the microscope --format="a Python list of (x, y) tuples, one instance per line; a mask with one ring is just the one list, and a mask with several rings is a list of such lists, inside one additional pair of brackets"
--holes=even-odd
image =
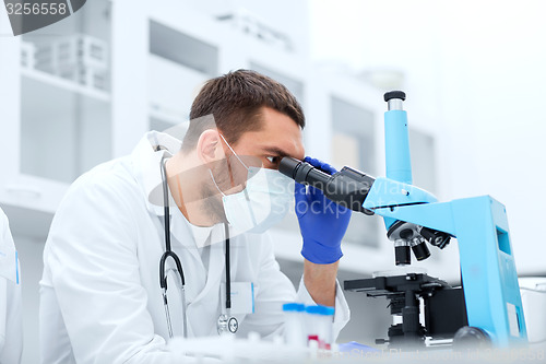
[[(404, 98), (401, 92), (385, 94), (387, 178), (375, 180), (363, 207), (383, 216), (388, 230), (396, 222), (417, 226), (410, 232), (406, 228), (413, 239), (423, 227), (456, 237), (468, 326), (485, 331), (497, 347), (525, 343), (525, 319), (506, 209), (490, 196), (438, 202), (431, 193), (412, 185)], [(394, 243), (396, 246), (395, 238)], [(403, 246), (405, 242), (399, 243)]]

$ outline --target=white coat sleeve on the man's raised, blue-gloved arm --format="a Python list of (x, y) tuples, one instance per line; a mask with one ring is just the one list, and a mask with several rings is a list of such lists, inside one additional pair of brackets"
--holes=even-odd
[[(251, 243), (252, 244), (252, 243)], [(256, 310), (248, 315), (241, 325), (240, 334), (250, 331), (259, 332), (265, 339), (282, 334), (284, 330), (283, 304), (299, 302), (306, 305), (316, 305), (307, 292), (301, 279), (299, 290), (296, 293), (293, 283), (281, 272), (275, 259), (273, 242), (269, 234), (263, 234), (261, 244), (260, 268), (258, 273), (258, 293), (256, 296)], [(335, 297), (335, 314), (333, 322), (334, 338), (347, 324), (349, 309), (343, 291), (339, 283)]]

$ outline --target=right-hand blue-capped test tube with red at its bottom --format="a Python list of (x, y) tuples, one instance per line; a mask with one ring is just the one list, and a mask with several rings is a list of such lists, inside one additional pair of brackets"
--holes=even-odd
[(308, 343), (316, 341), (319, 349), (330, 350), (333, 343), (332, 322), (334, 308), (321, 305), (306, 307)]

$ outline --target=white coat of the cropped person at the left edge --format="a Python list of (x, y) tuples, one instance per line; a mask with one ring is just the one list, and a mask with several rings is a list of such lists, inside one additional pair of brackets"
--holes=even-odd
[(23, 315), (19, 259), (8, 218), (0, 209), (0, 364), (21, 362)]

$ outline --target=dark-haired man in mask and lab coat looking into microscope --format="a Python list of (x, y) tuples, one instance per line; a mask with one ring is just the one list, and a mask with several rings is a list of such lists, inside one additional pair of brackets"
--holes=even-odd
[[(295, 97), (240, 70), (209, 81), (190, 117), (182, 143), (150, 132), (130, 156), (80, 177), (61, 202), (40, 282), (44, 363), (170, 363), (171, 336), (281, 334), (282, 304), (294, 301), (334, 306), (336, 334), (348, 320), (336, 283), (348, 210), (296, 187), (306, 257), (298, 293), (259, 234), (294, 195), (275, 171), (281, 157), (305, 155)], [(170, 253), (168, 290), (159, 286), (166, 246), (180, 259), (183, 295)]]

